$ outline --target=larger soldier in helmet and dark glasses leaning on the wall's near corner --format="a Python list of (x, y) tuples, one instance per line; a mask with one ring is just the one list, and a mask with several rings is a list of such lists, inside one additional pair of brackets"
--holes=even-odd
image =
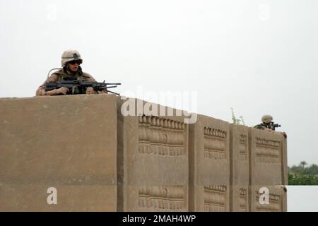
[[(61, 81), (64, 77), (76, 77), (82, 81), (88, 82), (95, 82), (95, 78), (91, 76), (89, 73), (85, 73), (82, 71), (81, 64), (83, 63), (83, 59), (81, 54), (75, 49), (68, 49), (63, 52), (61, 56), (61, 69), (52, 69), (57, 70), (52, 73), (51, 76), (48, 75), (47, 80), (45, 83), (54, 83), (57, 81)], [(52, 71), (51, 70), (51, 71)], [(69, 90), (65, 87), (61, 87), (55, 90), (45, 91), (45, 83), (40, 85), (37, 88), (36, 95), (43, 96), (43, 95), (66, 95)], [(86, 89), (86, 94), (98, 94), (98, 93), (105, 93), (105, 92), (97, 92), (93, 90), (93, 88), (89, 87)]]

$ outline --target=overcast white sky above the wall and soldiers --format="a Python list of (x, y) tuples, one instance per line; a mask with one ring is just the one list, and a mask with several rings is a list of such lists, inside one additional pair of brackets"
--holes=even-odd
[(288, 165), (317, 164), (317, 12), (316, 0), (0, 0), (0, 97), (35, 95), (75, 48), (121, 93), (196, 91), (196, 112), (231, 121), (233, 107), (248, 126), (272, 114)]

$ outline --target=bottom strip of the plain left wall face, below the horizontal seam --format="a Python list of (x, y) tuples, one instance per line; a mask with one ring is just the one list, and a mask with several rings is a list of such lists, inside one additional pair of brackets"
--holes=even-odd
[[(47, 189), (57, 189), (57, 205), (49, 205)], [(1, 184), (0, 211), (116, 211), (117, 186)]]

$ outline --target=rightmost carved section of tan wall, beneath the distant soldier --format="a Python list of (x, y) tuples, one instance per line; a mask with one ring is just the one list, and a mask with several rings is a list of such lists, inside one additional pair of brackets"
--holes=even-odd
[[(249, 128), (249, 206), (253, 212), (287, 211), (287, 141), (281, 133)], [(269, 189), (269, 203), (261, 204), (261, 188)]]

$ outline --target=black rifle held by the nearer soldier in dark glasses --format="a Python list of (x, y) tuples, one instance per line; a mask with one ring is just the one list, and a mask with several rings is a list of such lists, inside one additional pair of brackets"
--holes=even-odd
[(75, 77), (64, 77), (61, 81), (58, 81), (56, 83), (45, 83), (45, 91), (65, 87), (69, 89), (69, 95), (75, 95), (85, 94), (86, 89), (88, 87), (91, 87), (95, 91), (105, 90), (107, 93), (114, 93), (115, 95), (119, 95), (119, 93), (115, 93), (113, 91), (108, 90), (110, 88), (117, 88), (117, 85), (122, 85), (122, 83), (105, 83), (105, 81), (103, 81), (102, 83), (86, 82), (78, 80)]

